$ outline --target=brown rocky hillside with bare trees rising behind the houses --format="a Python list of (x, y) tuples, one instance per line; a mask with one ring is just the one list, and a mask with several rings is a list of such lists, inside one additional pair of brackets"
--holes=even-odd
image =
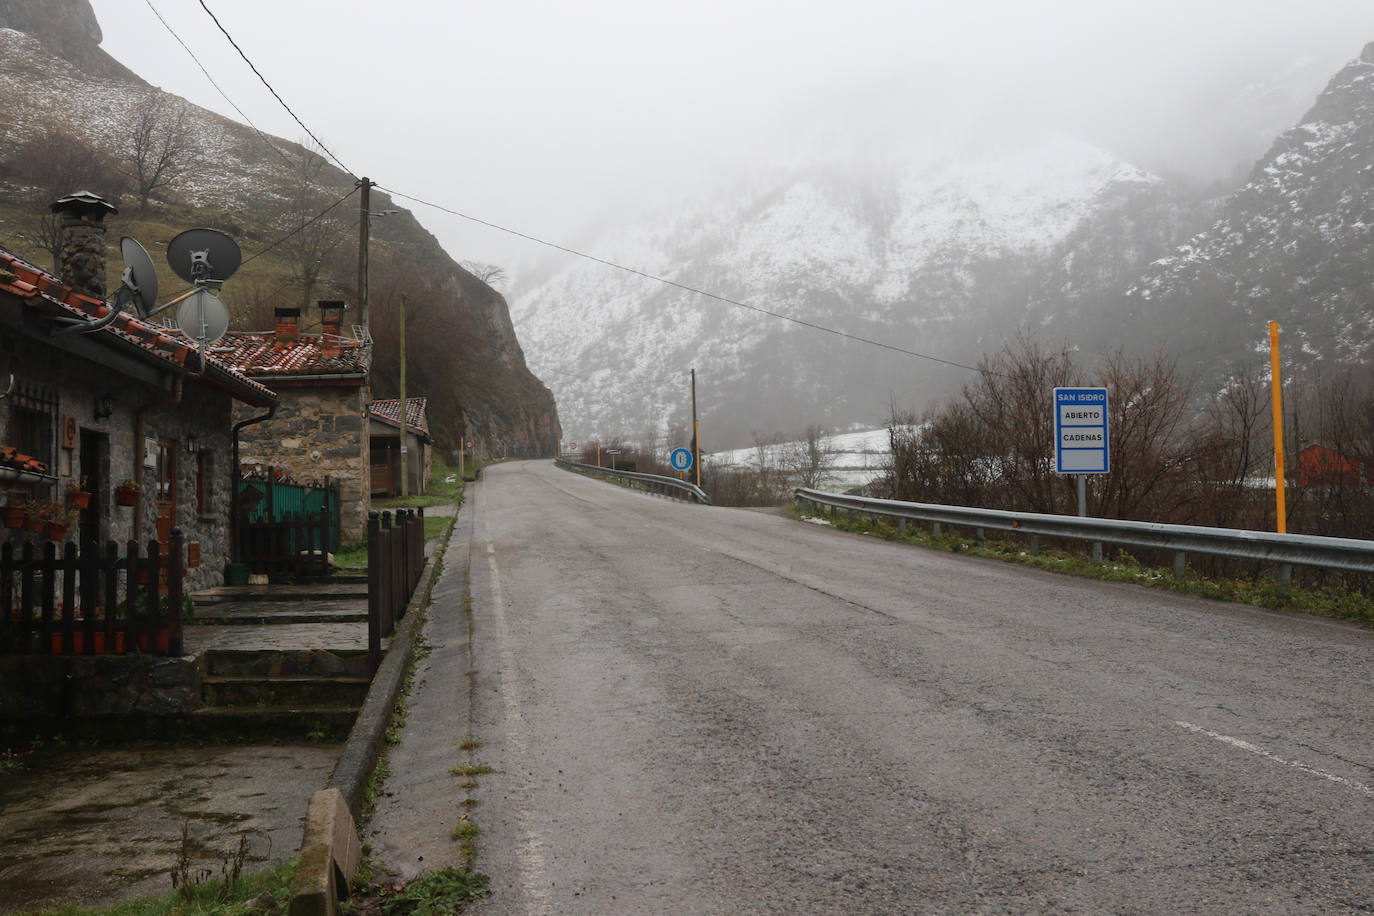
[[(177, 232), (212, 227), (234, 236), (243, 268), (224, 287), (232, 327), (272, 327), (278, 306), (357, 301), (359, 196), (352, 176), (316, 152), (155, 95), (99, 48), (87, 0), (0, 0), (0, 89), (23, 104), (0, 118), (0, 243), (51, 265), (47, 202), (89, 188), (120, 207), (109, 220), (109, 286), (118, 283), (117, 242), (137, 238), (153, 254), (162, 299), (181, 288), (162, 247)], [(140, 203), (132, 135), (148, 117), (174, 125), (181, 168)], [(559, 439), (552, 393), (530, 374), (506, 299), (459, 266), (419, 221), (374, 190), (370, 246), (372, 389), (396, 397), (397, 313), (407, 301), (408, 394), (429, 398), (442, 452), (460, 438), (513, 455), (552, 455)], [(323, 216), (322, 216), (323, 214)], [(304, 227), (304, 228), (302, 228)], [(356, 319), (353, 319), (356, 320)]]

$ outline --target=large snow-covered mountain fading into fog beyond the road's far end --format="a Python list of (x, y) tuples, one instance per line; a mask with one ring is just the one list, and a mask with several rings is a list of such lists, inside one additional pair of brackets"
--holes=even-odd
[[(591, 249), (746, 306), (969, 363), (1017, 332), (1036, 294), (1124, 283), (1178, 238), (1179, 213), (1161, 179), (1047, 133), (882, 169), (775, 174)], [(690, 368), (712, 446), (881, 422), (893, 401), (967, 378), (595, 262), (515, 302), (530, 365), (581, 438), (684, 423)], [(1041, 320), (1057, 317), (1046, 305)]]

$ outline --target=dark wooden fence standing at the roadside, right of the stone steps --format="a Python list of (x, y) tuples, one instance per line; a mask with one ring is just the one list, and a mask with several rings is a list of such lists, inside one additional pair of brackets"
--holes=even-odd
[(425, 569), (425, 509), (371, 512), (367, 519), (367, 654), (375, 672), (382, 639), (405, 617)]

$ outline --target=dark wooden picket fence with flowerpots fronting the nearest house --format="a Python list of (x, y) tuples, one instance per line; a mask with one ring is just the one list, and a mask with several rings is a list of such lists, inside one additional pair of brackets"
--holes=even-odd
[(0, 547), (0, 654), (181, 655), (185, 540), (172, 529), (165, 555), (148, 541), (140, 555), (110, 541)]

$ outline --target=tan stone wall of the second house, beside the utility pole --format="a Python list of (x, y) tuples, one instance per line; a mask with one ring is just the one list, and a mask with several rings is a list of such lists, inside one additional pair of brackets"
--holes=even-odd
[[(239, 464), (273, 467), (297, 483), (337, 482), (344, 540), (360, 540), (372, 508), (367, 404), (360, 386), (280, 386), (276, 415), (239, 433)], [(235, 420), (262, 412), (239, 405)]]

